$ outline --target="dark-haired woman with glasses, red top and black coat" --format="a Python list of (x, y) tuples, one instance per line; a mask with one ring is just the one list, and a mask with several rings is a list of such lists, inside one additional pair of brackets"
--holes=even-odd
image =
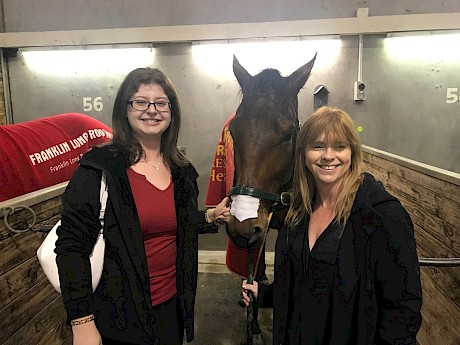
[[(113, 139), (80, 160), (63, 194), (56, 243), (74, 345), (183, 343), (194, 337), (199, 232), (228, 216), (224, 199), (198, 211), (198, 174), (179, 151), (181, 110), (170, 80), (139, 68), (122, 82)], [(105, 257), (92, 291), (89, 254), (107, 176)]]

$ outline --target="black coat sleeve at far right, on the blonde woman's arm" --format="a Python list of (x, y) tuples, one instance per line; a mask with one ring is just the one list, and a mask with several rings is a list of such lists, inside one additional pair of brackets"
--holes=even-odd
[(399, 202), (387, 203), (379, 211), (384, 231), (373, 245), (379, 306), (376, 342), (416, 344), (422, 288), (412, 221)]

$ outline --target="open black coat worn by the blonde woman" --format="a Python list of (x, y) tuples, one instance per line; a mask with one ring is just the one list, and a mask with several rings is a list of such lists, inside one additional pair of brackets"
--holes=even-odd
[[(261, 286), (259, 305), (274, 307), (276, 345), (283, 344), (287, 327), (290, 248), (307, 224), (308, 218), (292, 229), (281, 226), (274, 283)], [(327, 325), (332, 331), (323, 345), (416, 344), (422, 290), (412, 221), (400, 202), (369, 174), (356, 195), (336, 264)], [(302, 315), (303, 322), (309, 317), (315, 315)]]

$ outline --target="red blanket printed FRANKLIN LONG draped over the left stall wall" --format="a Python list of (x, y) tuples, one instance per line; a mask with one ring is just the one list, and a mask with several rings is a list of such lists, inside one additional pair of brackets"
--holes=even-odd
[(111, 137), (110, 127), (78, 113), (0, 126), (0, 201), (69, 180), (80, 157)]

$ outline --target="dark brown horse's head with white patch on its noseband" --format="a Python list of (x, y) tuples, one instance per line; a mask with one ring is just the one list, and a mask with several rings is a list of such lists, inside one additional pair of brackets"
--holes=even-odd
[(276, 69), (252, 76), (233, 57), (242, 101), (229, 124), (235, 173), (228, 234), (241, 247), (258, 247), (268, 230), (274, 204), (286, 204), (294, 171), (298, 93), (313, 59), (287, 77)]

